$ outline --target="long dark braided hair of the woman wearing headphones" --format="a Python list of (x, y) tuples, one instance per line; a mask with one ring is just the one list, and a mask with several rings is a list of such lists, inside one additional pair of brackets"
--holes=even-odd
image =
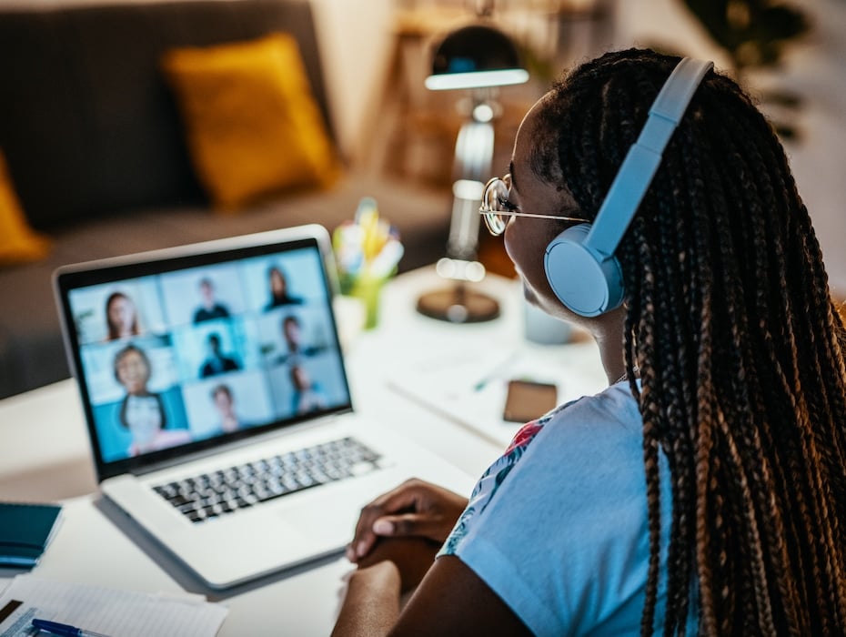
[[(593, 218), (678, 62), (631, 49), (564, 76), (533, 171)], [(730, 78), (705, 77), (617, 254), (650, 521), (641, 633), (666, 578), (668, 635), (697, 610), (706, 635), (846, 634), (846, 332), (781, 144)]]

